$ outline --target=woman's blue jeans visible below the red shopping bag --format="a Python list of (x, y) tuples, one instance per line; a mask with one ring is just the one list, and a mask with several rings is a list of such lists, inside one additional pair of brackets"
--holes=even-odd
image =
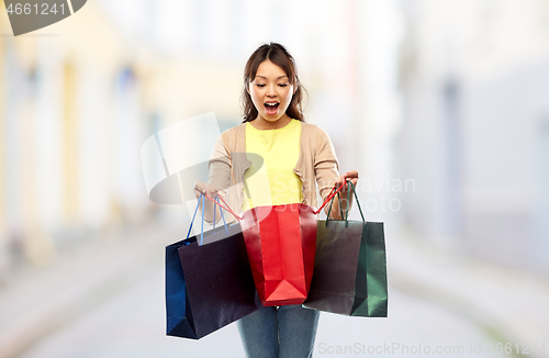
[(247, 358), (310, 358), (320, 312), (301, 304), (269, 306), (236, 322)]

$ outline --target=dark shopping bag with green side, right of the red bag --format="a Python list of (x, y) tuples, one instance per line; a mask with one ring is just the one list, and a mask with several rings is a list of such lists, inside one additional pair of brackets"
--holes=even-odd
[(356, 192), (355, 198), (362, 221), (349, 221), (348, 212), (344, 220), (318, 221), (313, 281), (303, 305), (348, 316), (386, 317), (383, 223), (366, 222)]

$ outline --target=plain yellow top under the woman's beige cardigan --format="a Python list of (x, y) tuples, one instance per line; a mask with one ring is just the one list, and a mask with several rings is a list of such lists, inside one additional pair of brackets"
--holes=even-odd
[[(293, 171), (300, 155), (301, 122), (278, 130), (256, 130), (246, 123), (246, 153), (251, 166), (244, 174), (243, 212), (254, 206), (301, 203), (300, 177)], [(262, 160), (261, 160), (262, 158)]]

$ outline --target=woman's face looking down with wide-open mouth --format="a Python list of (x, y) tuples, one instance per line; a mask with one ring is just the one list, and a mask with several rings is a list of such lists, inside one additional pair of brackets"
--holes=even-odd
[(248, 92), (259, 116), (268, 122), (277, 122), (290, 105), (293, 85), (290, 85), (282, 68), (266, 59), (257, 68)]

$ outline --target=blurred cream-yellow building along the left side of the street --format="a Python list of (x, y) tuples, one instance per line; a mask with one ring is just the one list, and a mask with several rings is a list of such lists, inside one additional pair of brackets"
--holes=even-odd
[[(45, 261), (143, 202), (139, 172), (124, 165), (146, 125), (142, 85), (123, 38), (89, 8), (38, 35), (0, 38), (4, 262)], [(10, 34), (5, 13), (0, 21)]]

